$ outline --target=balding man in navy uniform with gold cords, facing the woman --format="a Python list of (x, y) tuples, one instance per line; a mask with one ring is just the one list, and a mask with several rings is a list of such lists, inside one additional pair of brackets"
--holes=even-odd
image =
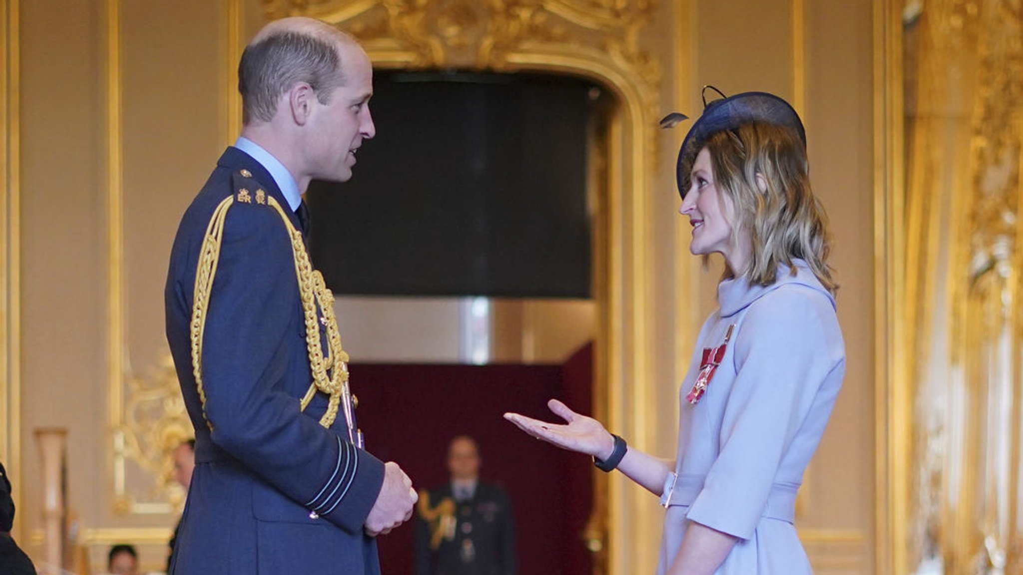
[(241, 137), (182, 217), (165, 292), (195, 428), (171, 573), (379, 574), (374, 537), (416, 493), (362, 448), (301, 197), (351, 178), (375, 133), (372, 67), (346, 34), (284, 18), (246, 48), (238, 89)]

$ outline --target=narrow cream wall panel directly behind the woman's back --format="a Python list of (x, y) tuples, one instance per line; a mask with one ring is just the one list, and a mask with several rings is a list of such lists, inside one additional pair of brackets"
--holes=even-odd
[(860, 530), (873, 569), (874, 190), (870, 2), (806, 4), (806, 123), (815, 191), (831, 216), (846, 377), (813, 462), (810, 523)]

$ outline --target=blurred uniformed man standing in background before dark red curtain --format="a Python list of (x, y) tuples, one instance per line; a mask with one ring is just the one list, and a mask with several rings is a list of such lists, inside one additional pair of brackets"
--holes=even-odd
[(476, 440), (448, 444), (451, 481), (419, 494), (415, 575), (515, 575), (515, 518), (507, 493), (480, 481)]

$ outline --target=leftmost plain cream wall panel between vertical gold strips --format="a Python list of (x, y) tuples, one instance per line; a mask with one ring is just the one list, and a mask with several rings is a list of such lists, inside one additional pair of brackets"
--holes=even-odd
[(26, 542), (41, 521), (41, 427), (70, 432), (74, 508), (105, 517), (106, 304), (101, 5), (20, 8), (24, 469), (15, 477)]

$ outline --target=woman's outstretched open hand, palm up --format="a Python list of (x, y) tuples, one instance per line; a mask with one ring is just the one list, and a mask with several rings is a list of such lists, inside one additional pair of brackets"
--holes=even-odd
[(578, 451), (598, 459), (607, 459), (615, 448), (615, 440), (599, 422), (569, 409), (551, 399), (547, 407), (565, 424), (548, 424), (519, 413), (505, 413), (504, 418), (529, 435), (569, 451)]

